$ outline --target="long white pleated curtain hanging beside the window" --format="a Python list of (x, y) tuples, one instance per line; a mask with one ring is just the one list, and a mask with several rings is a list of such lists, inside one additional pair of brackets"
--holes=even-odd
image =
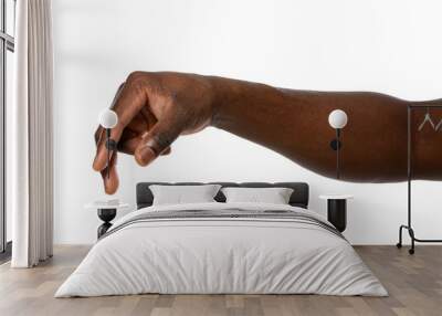
[(18, 0), (14, 102), (11, 109), (10, 199), (13, 267), (52, 256), (52, 17), (51, 0)]

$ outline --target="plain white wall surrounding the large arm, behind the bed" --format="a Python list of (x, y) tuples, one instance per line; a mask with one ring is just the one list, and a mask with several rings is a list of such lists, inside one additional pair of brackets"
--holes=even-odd
[[(442, 2), (436, 0), (54, 0), (53, 10), (56, 243), (95, 240), (99, 221), (83, 204), (102, 193), (91, 168), (96, 116), (131, 71), (442, 97)], [(357, 244), (396, 243), (398, 225), (407, 219), (406, 183), (336, 182), (213, 128), (180, 138), (170, 157), (148, 168), (130, 157), (118, 167), (118, 194), (133, 204), (141, 180), (286, 180), (309, 182), (311, 207), (322, 213), (319, 193), (355, 194), (345, 234)], [(418, 236), (440, 238), (441, 185), (415, 188)]]

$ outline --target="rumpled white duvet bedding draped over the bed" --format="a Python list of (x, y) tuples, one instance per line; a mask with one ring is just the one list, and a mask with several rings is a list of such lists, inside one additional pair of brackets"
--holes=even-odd
[[(291, 210), (290, 206), (198, 203), (141, 209)], [(112, 231), (112, 230), (110, 230)], [(135, 222), (99, 240), (55, 297), (140, 293), (386, 296), (351, 245), (326, 229), (281, 219), (168, 219)]]

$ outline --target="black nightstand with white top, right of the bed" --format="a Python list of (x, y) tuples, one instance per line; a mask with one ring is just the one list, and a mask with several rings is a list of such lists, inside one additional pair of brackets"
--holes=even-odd
[(339, 232), (344, 232), (347, 228), (347, 200), (352, 199), (352, 196), (323, 194), (319, 199), (327, 200), (327, 220)]

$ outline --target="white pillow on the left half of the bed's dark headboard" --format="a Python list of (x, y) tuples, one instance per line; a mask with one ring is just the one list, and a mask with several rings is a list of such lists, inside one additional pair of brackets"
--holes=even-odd
[(213, 198), (220, 188), (220, 185), (149, 186), (154, 206), (215, 202)]

